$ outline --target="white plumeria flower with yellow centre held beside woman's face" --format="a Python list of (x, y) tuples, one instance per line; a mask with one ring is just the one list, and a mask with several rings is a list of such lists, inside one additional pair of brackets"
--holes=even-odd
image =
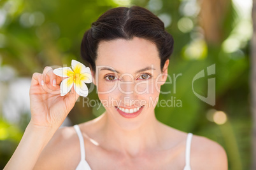
[(68, 77), (60, 83), (60, 96), (65, 96), (72, 88), (80, 96), (86, 97), (88, 95), (88, 88), (85, 83), (92, 82), (92, 73), (89, 67), (85, 67), (82, 63), (72, 60), (72, 69), (70, 67), (60, 67), (54, 69), (53, 73), (60, 77)]

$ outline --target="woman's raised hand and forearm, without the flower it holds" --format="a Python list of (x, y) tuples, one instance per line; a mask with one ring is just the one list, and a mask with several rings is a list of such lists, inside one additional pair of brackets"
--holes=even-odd
[(74, 107), (79, 95), (72, 88), (71, 93), (60, 96), (61, 81), (52, 67), (45, 67), (43, 74), (33, 74), (29, 91), (31, 121), (4, 170), (33, 169), (43, 148)]

